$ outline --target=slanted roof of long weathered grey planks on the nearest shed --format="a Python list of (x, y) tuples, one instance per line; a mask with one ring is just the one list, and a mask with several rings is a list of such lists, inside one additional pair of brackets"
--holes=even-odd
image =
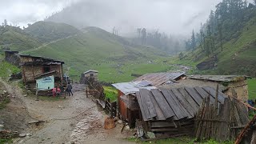
[[(210, 95), (210, 103), (215, 102), (216, 90), (211, 87), (182, 87), (172, 89), (139, 90), (136, 92), (144, 121), (173, 118), (194, 118), (203, 99)], [(218, 92), (218, 105), (224, 103), (226, 94)]]

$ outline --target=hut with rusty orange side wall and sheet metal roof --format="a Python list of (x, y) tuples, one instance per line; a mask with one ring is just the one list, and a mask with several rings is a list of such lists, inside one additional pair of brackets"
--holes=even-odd
[(176, 82), (183, 77), (185, 77), (184, 72), (152, 73), (144, 74), (132, 82), (113, 84), (118, 89), (118, 114), (131, 127), (134, 127), (139, 113), (138, 102), (135, 101), (135, 93), (140, 89), (157, 89), (158, 86)]

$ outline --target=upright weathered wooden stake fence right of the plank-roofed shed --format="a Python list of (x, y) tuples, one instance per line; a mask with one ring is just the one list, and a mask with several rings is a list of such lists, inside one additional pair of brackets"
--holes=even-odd
[(204, 99), (195, 118), (195, 136), (198, 140), (214, 139), (233, 141), (243, 126), (249, 122), (246, 106), (234, 98), (223, 98), (224, 104), (210, 104), (210, 96)]

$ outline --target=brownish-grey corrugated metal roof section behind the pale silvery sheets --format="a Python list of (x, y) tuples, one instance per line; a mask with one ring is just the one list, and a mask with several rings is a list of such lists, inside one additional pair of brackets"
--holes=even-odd
[(184, 74), (185, 74), (184, 72), (144, 74), (141, 77), (134, 79), (133, 82), (146, 80), (146, 81), (152, 82), (153, 86), (161, 86), (165, 82), (168, 82), (170, 80), (175, 80), (176, 78), (179, 78)]

